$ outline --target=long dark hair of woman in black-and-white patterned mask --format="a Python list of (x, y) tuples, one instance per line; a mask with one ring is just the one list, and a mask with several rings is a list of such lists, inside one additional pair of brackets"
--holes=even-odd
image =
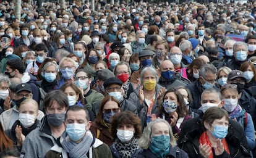
[[(176, 95), (176, 97), (177, 97), (177, 103), (179, 103), (179, 106), (177, 106), (177, 110), (176, 110), (177, 114), (179, 115), (179, 117), (185, 117), (189, 112), (188, 112), (188, 110), (187, 110), (187, 106), (186, 106), (186, 103), (185, 103), (185, 101), (184, 101), (184, 98), (182, 97), (181, 93), (180, 93), (177, 89), (174, 89), (174, 88), (168, 89), (168, 90), (164, 93), (164, 95), (163, 95), (162, 104), (163, 104), (163, 102), (164, 102), (164, 97), (166, 96), (166, 94), (167, 94), (167, 93), (171, 93), (171, 92), (173, 92), (173, 93)], [(166, 112), (164, 111), (164, 108), (163, 108), (162, 104), (161, 104), (161, 106), (158, 107), (160, 114), (166, 113)]]

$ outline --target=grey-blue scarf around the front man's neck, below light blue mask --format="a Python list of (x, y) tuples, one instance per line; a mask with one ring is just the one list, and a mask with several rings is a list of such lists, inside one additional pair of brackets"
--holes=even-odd
[(61, 145), (62, 148), (69, 153), (69, 157), (77, 158), (77, 157), (85, 157), (87, 158), (87, 152), (93, 143), (93, 135), (91, 131), (86, 131), (85, 137), (83, 140), (77, 144), (69, 139), (66, 131), (62, 134)]

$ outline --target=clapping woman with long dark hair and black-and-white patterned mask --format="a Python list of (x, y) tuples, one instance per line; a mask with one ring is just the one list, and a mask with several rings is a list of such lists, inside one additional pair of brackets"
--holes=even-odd
[[(170, 88), (163, 93), (163, 100), (158, 102), (158, 114), (155, 118), (163, 118), (172, 127), (173, 135), (179, 138), (184, 122), (191, 119), (186, 103), (177, 89)], [(151, 119), (155, 119), (151, 115)]]

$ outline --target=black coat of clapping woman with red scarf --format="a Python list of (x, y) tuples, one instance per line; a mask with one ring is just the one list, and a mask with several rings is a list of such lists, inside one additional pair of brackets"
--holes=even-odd
[[(202, 115), (201, 117), (192, 118), (184, 123), (181, 130), (178, 146), (189, 154), (189, 157), (202, 158), (199, 154), (199, 138), (203, 131)], [(226, 136), (230, 156), (223, 152), (221, 156), (214, 157), (250, 157), (249, 146), (247, 144), (244, 129), (242, 126), (229, 118), (228, 135)]]

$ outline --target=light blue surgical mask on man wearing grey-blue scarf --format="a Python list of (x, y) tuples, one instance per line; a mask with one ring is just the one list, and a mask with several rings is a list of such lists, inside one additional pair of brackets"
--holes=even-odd
[(85, 135), (86, 125), (80, 123), (67, 124), (66, 132), (72, 141), (78, 141)]

